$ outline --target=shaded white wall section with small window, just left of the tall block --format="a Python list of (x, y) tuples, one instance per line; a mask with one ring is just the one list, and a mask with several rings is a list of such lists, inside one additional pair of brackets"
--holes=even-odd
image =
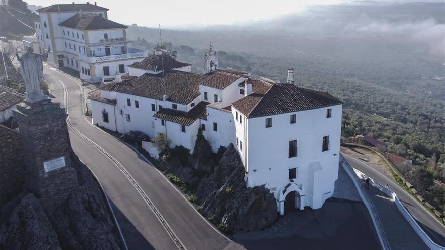
[[(218, 124), (218, 131), (213, 131), (213, 123)], [(235, 123), (230, 111), (223, 111), (207, 107), (206, 131), (203, 133), (212, 146), (212, 151), (217, 152), (220, 146), (227, 147), (230, 143), (235, 145)]]

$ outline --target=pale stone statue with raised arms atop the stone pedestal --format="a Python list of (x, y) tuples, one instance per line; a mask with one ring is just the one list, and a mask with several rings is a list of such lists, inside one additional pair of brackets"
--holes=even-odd
[(17, 54), (17, 59), (20, 62), (20, 71), (26, 87), (25, 99), (30, 103), (48, 98), (40, 89), (40, 81), (43, 79), (42, 61), (47, 59), (47, 57), (48, 54), (40, 55), (33, 53), (31, 47), (22, 56)]

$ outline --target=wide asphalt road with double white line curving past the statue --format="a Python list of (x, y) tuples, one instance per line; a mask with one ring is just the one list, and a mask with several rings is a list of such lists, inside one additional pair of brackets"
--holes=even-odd
[(67, 112), (75, 128), (70, 128), (71, 145), (104, 186), (129, 249), (243, 249), (205, 220), (133, 148), (86, 120), (78, 80), (48, 66), (44, 67), (44, 76), (56, 102), (63, 104), (64, 86), (67, 89)]

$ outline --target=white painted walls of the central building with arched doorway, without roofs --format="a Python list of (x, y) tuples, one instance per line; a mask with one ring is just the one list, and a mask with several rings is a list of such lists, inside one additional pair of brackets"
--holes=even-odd
[[(142, 75), (138, 69), (130, 68), (129, 73)], [(173, 103), (169, 101), (119, 92), (103, 97), (117, 101), (115, 130), (120, 133), (138, 130), (150, 138), (164, 133), (171, 140), (170, 147), (182, 145), (192, 152), (198, 129), (205, 125), (203, 135), (213, 152), (217, 152), (220, 146), (227, 147), (233, 143), (246, 168), (247, 185), (265, 185), (269, 188), (277, 199), (281, 214), (284, 213), (286, 196), (293, 191), (297, 193), (296, 208), (322, 207), (326, 199), (332, 196), (338, 176), (342, 105), (247, 118), (231, 105), (253, 91), (250, 81), (240, 84), (245, 79), (240, 76), (224, 89), (200, 85), (200, 95), (192, 102), (187, 105), (176, 104), (177, 110), (188, 112), (192, 109), (191, 103), (210, 103), (206, 106), (207, 120), (198, 118), (190, 126), (185, 126), (185, 131), (182, 131), (179, 123), (154, 118), (160, 105), (172, 108)], [(240, 93), (240, 89), (244, 90), (244, 94)], [(218, 95), (217, 100), (215, 94)], [(127, 98), (131, 106), (127, 105)], [(135, 100), (139, 101), (139, 108), (135, 107)], [(92, 109), (96, 110), (93, 112), (94, 123), (97, 122), (94, 116), (100, 117), (101, 110), (108, 107), (98, 103), (92, 101)], [(155, 105), (154, 111), (152, 104)], [(328, 109), (331, 109), (330, 117), (327, 116)], [(130, 121), (126, 121), (126, 114), (130, 115)], [(296, 115), (295, 123), (291, 123), (291, 115)], [(272, 119), (271, 127), (266, 127), (267, 118)], [(112, 121), (110, 117), (108, 126), (111, 129)], [(329, 136), (329, 146), (323, 151), (325, 136)], [(297, 156), (289, 157), (289, 142), (293, 140), (297, 141)], [(296, 176), (289, 179), (289, 169), (293, 168), (296, 168)]]

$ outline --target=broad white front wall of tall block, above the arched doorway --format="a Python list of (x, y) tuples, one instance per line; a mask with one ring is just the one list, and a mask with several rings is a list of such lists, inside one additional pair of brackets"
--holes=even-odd
[[(327, 108), (332, 108), (331, 118), (326, 118)], [(303, 206), (320, 208), (334, 191), (340, 151), (342, 106), (327, 108), (248, 119), (248, 185), (276, 187), (278, 198), (289, 183), (288, 169), (297, 167), (295, 182), (303, 184), (306, 190)], [(290, 124), (291, 114), (296, 114), (295, 124)], [(265, 119), (270, 117), (272, 127), (266, 128)], [(237, 135), (242, 137), (238, 129), (241, 126), (237, 126)], [(329, 150), (322, 152), (323, 136), (327, 135)], [(291, 140), (297, 140), (298, 156), (289, 158)], [(321, 170), (315, 171), (320, 166)]]

